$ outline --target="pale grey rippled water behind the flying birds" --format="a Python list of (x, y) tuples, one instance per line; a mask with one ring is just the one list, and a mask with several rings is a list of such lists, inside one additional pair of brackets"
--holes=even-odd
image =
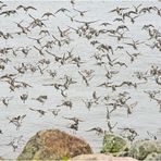
[[(92, 27), (99, 29), (103, 28), (100, 26), (102, 22), (112, 23), (111, 26), (107, 26), (104, 28), (115, 28), (121, 23), (113, 23), (113, 20), (116, 17), (116, 13), (109, 13), (116, 5), (119, 7), (129, 7), (138, 5), (143, 3), (143, 7), (149, 7), (151, 3), (158, 8), (161, 7), (161, 2), (158, 1), (76, 1), (75, 8), (78, 10), (89, 10), (82, 17), (77, 12), (72, 10), (72, 4), (70, 1), (5, 1), (8, 7), (5, 9), (15, 9), (20, 4), (24, 5), (33, 5), (37, 9), (37, 11), (32, 11), (30, 14), (34, 17), (40, 17), (45, 12), (54, 13), (60, 8), (66, 8), (71, 11), (70, 15), (76, 15), (76, 20), (81, 21), (98, 21), (95, 24), (91, 24)], [(3, 9), (4, 10), (4, 9)], [(9, 17), (4, 17), (0, 15), (0, 30), (15, 33), (17, 32), (16, 24), (13, 22), (21, 22), (24, 20), (23, 25), (27, 25), (32, 22), (32, 18), (27, 13), (22, 10), (18, 11), (18, 14), (11, 15)], [(64, 14), (59, 13), (55, 17), (49, 17), (48, 21), (45, 22), (48, 30), (52, 33), (55, 37), (59, 37), (59, 32), (57, 26), (60, 28), (66, 29), (67, 26), (77, 27), (82, 24), (76, 22), (71, 22), (69, 17)], [(149, 44), (148, 34), (145, 30), (141, 30), (141, 27), (145, 24), (152, 24), (157, 29), (161, 29), (161, 17), (154, 13), (145, 14), (136, 18), (136, 22), (132, 24), (128, 20), (125, 21), (125, 25), (128, 26), (129, 32), (127, 32), (126, 36), (133, 39), (138, 39), (140, 41), (145, 41)], [(38, 37), (39, 28), (36, 27), (32, 29), (28, 34), (30, 37)], [(119, 133), (119, 127), (132, 127), (136, 129), (139, 134), (137, 138), (146, 138), (149, 137), (147, 135), (147, 131), (154, 134), (158, 139), (161, 138), (161, 113), (159, 112), (159, 106), (156, 101), (149, 99), (148, 95), (144, 92), (144, 90), (160, 90), (160, 86), (154, 83), (153, 78), (149, 78), (146, 84), (140, 84), (138, 88), (134, 89), (133, 87), (122, 86), (121, 88), (116, 88), (116, 91), (112, 91), (111, 88), (97, 87), (98, 85), (107, 82), (107, 77), (104, 76), (106, 70), (103, 66), (95, 65), (96, 61), (94, 58), (90, 58), (95, 52), (98, 52), (95, 47), (90, 45), (90, 40), (86, 38), (78, 37), (74, 30), (70, 30), (70, 37), (73, 39), (69, 46), (63, 46), (59, 48), (54, 46), (50, 51), (55, 53), (57, 55), (62, 55), (64, 52), (70, 51), (74, 48), (73, 53), (75, 55), (79, 55), (82, 60), (85, 62), (78, 69), (74, 64), (64, 64), (60, 65), (54, 63), (53, 57), (46, 54), (46, 59), (50, 59), (51, 63), (48, 66), (49, 69), (55, 70), (58, 75), (55, 78), (51, 78), (47, 72), (45, 74), (40, 74), (38, 71), (36, 73), (26, 72), (25, 74), (18, 74), (17, 81), (24, 81), (33, 86), (33, 88), (20, 88), (15, 89), (15, 91), (10, 91), (9, 85), (5, 82), (0, 82), (0, 98), (2, 97), (14, 97), (9, 107), (4, 107), (2, 102), (0, 102), (0, 129), (2, 129), (3, 134), (0, 135), (0, 156), (5, 159), (15, 159), (17, 154), (23, 149), (25, 143), (28, 140), (30, 136), (33, 136), (37, 131), (44, 128), (59, 128), (65, 132), (73, 134), (73, 131), (66, 128), (72, 121), (63, 119), (77, 116), (83, 120), (79, 123), (78, 131), (75, 135), (83, 137), (86, 139), (94, 151), (99, 151), (102, 144), (102, 135), (98, 136), (95, 132), (86, 132), (92, 127), (101, 127), (108, 131), (107, 119), (106, 119), (106, 104), (102, 98), (107, 95), (115, 98), (117, 94), (127, 91), (132, 99), (129, 103), (134, 103), (137, 101), (137, 106), (133, 109), (132, 114), (127, 114), (126, 109), (120, 108), (115, 110), (111, 114), (111, 123), (115, 124), (117, 122), (116, 127), (113, 129), (115, 133)], [(51, 36), (47, 36), (42, 39), (42, 44), (47, 40), (53, 39)], [(95, 38), (94, 38), (95, 39)], [(126, 62), (128, 67), (115, 65), (112, 70), (120, 71), (119, 74), (114, 75), (110, 82), (115, 84), (120, 84), (123, 81), (134, 81), (134, 82), (143, 82), (138, 81), (134, 75), (134, 72), (146, 72), (150, 70), (151, 65), (161, 66), (161, 53), (159, 50), (151, 50), (145, 44), (139, 45), (138, 51), (141, 54), (131, 63), (129, 57), (125, 54), (125, 51), (133, 52), (133, 48), (124, 45), (129, 40), (121, 40), (117, 41), (116, 38), (109, 37), (108, 34), (100, 35), (96, 38), (98, 41), (111, 45), (113, 49), (116, 45), (123, 45), (125, 50), (114, 51), (113, 58), (119, 58), (120, 61)], [(11, 53), (7, 55), (1, 54), (1, 58), (8, 57), (12, 61), (5, 65), (5, 70), (0, 71), (0, 76), (8, 73), (16, 73), (13, 66), (20, 66), (22, 62), (36, 64), (39, 60), (44, 59), (37, 50), (33, 48), (33, 45), (38, 46), (36, 41), (28, 39), (26, 35), (14, 35), (13, 39), (4, 40), (0, 38), (0, 48), (3, 47), (13, 47), (14, 49), (18, 47), (28, 46), (32, 48), (28, 55), (25, 57), (21, 52), (17, 53), (17, 57), (14, 57)], [(46, 65), (45, 65), (46, 66)], [(86, 87), (85, 83), (82, 79), (82, 76), (78, 74), (78, 71), (84, 70), (94, 70), (95, 76), (89, 82), (89, 87)], [(58, 104), (62, 103), (63, 97), (52, 86), (42, 86), (42, 84), (51, 84), (59, 83), (60, 78), (64, 76), (64, 74), (71, 76), (77, 83), (70, 86), (70, 89), (65, 92), (67, 94), (67, 99), (73, 102), (73, 108), (70, 109), (67, 107), (61, 107), (61, 111), (58, 116), (53, 116), (48, 109), (57, 109)], [(92, 92), (96, 90), (98, 96), (101, 96), (101, 99), (98, 104), (94, 104), (90, 110), (88, 110), (82, 99), (90, 99)], [(28, 94), (28, 99), (25, 103), (22, 102), (20, 96), (22, 94)], [(45, 104), (33, 100), (32, 98), (36, 98), (39, 95), (47, 95), (48, 99)], [(161, 95), (159, 94), (160, 98)], [(47, 111), (44, 116), (40, 116), (39, 113), (30, 111), (29, 108), (33, 109), (41, 109)], [(23, 124), (20, 129), (10, 123), (8, 117), (13, 117), (17, 115), (26, 114), (26, 117), (23, 120)], [(22, 140), (20, 141), (18, 148), (13, 151), (12, 146), (8, 146), (8, 144), (14, 139), (14, 137), (20, 137), (23, 135)], [(15, 143), (16, 144), (16, 143)]]

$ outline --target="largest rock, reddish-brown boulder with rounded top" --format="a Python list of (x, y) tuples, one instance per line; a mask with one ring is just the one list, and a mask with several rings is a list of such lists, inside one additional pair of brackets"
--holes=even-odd
[(83, 139), (59, 129), (46, 129), (27, 141), (17, 160), (67, 160), (87, 153), (92, 150)]

